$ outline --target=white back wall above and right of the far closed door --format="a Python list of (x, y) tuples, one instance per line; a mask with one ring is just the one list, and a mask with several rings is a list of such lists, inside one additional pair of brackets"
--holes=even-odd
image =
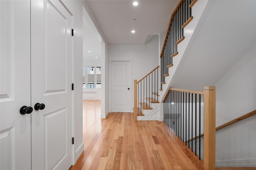
[[(156, 66), (159, 58), (159, 38), (155, 35), (145, 45), (109, 45), (109, 60), (132, 60), (132, 86), (134, 80), (140, 80)], [(111, 86), (111, 82), (110, 82)], [(134, 91), (132, 87), (132, 101)], [(110, 97), (111, 98), (111, 97)], [(133, 106), (133, 102), (132, 102)], [(131, 107), (132, 110), (132, 107)]]

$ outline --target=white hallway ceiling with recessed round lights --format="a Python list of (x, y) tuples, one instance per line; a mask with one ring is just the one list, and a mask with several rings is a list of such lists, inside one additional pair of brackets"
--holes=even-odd
[(138, 6), (133, 2), (87, 0), (109, 45), (143, 45), (152, 35), (163, 34), (179, 0), (139, 0)]

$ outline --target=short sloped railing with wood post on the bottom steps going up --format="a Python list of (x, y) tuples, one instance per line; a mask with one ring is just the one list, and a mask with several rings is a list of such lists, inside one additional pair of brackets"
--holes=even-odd
[(159, 66), (139, 81), (134, 80), (134, 120), (143, 115), (143, 109), (150, 108), (150, 101), (158, 101)]

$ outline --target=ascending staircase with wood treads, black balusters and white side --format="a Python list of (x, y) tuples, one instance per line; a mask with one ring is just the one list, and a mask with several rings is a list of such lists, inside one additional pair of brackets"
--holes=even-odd
[(134, 80), (134, 120), (163, 121), (159, 102), (164, 100), (170, 88), (207, 2), (181, 0), (175, 8), (160, 54), (160, 66), (138, 82)]

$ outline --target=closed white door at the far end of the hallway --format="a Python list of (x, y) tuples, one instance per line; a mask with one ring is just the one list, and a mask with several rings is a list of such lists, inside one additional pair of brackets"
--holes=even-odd
[(131, 73), (130, 61), (111, 61), (112, 112), (131, 110)]

